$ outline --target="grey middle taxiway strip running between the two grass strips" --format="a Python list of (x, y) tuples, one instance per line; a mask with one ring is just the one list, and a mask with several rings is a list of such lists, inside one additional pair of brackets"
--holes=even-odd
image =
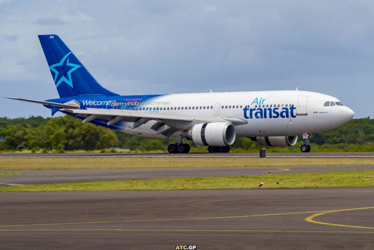
[(97, 180), (131, 180), (220, 177), (220, 176), (273, 176), (306, 172), (374, 170), (374, 165), (367, 166), (309, 166), (309, 167), (223, 167), (223, 168), (130, 168), (130, 169), (81, 169), (81, 170), (28, 170), (0, 171), (0, 173), (20, 174), (19, 176), (0, 176), (0, 186), (9, 184), (68, 183)]

